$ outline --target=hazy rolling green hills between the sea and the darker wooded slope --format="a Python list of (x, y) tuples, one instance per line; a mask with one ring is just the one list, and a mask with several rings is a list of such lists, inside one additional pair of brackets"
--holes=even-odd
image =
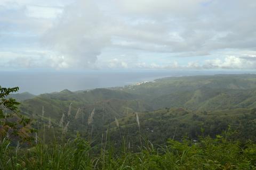
[(45, 105), (46, 112), (51, 112), (55, 117), (66, 111), (68, 105), (73, 103), (75, 109), (82, 106), (86, 109), (91, 105), (101, 108), (105, 104), (106, 107), (111, 105), (114, 107), (114, 112), (119, 114), (121, 107), (128, 107), (127, 109), (137, 112), (164, 107), (214, 111), (254, 108), (255, 97), (256, 75), (254, 74), (175, 77), (157, 79), (139, 86), (77, 92), (63, 90), (43, 94), (23, 101), (21, 110), (30, 114), (39, 114), (42, 106)]

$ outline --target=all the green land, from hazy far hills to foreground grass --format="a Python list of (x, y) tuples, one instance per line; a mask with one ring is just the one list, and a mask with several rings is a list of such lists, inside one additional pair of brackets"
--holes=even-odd
[(21, 114), (4, 89), (2, 169), (256, 169), (254, 74), (16, 94)]

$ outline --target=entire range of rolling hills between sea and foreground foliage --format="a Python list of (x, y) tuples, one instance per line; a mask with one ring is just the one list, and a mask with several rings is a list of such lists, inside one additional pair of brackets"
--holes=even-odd
[(94, 109), (94, 137), (100, 138), (110, 125), (114, 139), (118, 138), (115, 117), (123, 134), (138, 134), (134, 117), (138, 113), (141, 130), (151, 140), (162, 139), (157, 140), (161, 143), (174, 133), (175, 139), (183, 135), (196, 138), (205, 128), (206, 134), (214, 136), (229, 124), (239, 126), (248, 115), (254, 120), (255, 84), (254, 74), (164, 78), (138, 86), (43, 94), (22, 101), (20, 109), (38, 123), (51, 118), (54, 126), (64, 114), (64, 123), (70, 122), (70, 134), (87, 133), (87, 120)]

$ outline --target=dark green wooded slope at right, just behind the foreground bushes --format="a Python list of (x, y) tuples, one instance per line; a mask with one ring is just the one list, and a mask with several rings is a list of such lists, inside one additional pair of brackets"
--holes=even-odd
[[(181, 140), (186, 136), (189, 139), (197, 139), (200, 135), (215, 137), (226, 130), (241, 130), (234, 134), (235, 138), (256, 140), (254, 122), (256, 114), (251, 109), (233, 109), (223, 111), (189, 111), (183, 108), (165, 108), (154, 112), (138, 113), (140, 133), (154, 143), (164, 143), (167, 139)], [(139, 133), (135, 113), (118, 119), (119, 129), (122, 135), (135, 139)], [(110, 124), (111, 128), (117, 128), (116, 121)], [(118, 139), (118, 133), (113, 133)], [(137, 144), (138, 144), (137, 140)]]

